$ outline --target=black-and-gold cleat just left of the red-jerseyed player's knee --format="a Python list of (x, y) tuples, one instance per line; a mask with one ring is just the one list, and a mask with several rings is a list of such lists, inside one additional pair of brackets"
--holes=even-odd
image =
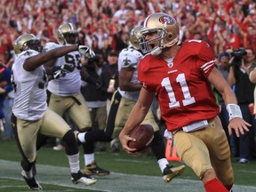
[(166, 165), (163, 172), (163, 179), (165, 182), (170, 182), (173, 178), (179, 176), (185, 169), (185, 165), (179, 167), (172, 167), (169, 164)]

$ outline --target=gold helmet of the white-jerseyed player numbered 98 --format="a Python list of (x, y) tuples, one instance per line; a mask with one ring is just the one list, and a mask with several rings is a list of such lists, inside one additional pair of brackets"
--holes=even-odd
[(65, 23), (58, 28), (58, 41), (60, 44), (77, 44), (78, 33), (72, 23)]

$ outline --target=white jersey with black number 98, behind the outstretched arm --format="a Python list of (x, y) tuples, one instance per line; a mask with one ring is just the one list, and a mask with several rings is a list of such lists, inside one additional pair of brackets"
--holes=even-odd
[[(47, 43), (45, 44), (44, 50), (46, 52), (60, 46), (62, 44)], [(48, 90), (59, 96), (71, 96), (76, 95), (80, 92), (81, 88), (81, 75), (77, 67), (80, 65), (81, 55), (79, 52), (68, 52), (63, 57), (56, 60), (54, 66), (61, 66), (65, 63), (72, 64), (75, 66), (74, 71), (67, 73), (66, 76), (60, 77), (59, 79), (52, 79), (48, 84)]]

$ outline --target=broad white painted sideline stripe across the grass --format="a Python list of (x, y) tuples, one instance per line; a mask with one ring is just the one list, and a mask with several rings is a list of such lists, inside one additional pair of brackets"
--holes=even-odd
[[(23, 180), (20, 175), (20, 163), (0, 160), (0, 179)], [(161, 176), (144, 176), (136, 174), (125, 174), (119, 172), (111, 172), (106, 177), (95, 177), (97, 183), (92, 186), (84, 186), (82, 184), (74, 185), (70, 180), (70, 171), (68, 167), (52, 166), (52, 165), (36, 165), (36, 178), (44, 188), (44, 184), (56, 185), (68, 188), (84, 188), (102, 191), (102, 192), (163, 192), (179, 191), (179, 192), (204, 192), (204, 187), (199, 180), (183, 180), (174, 179), (171, 183), (164, 183)], [(24, 186), (26, 184), (24, 183)], [(7, 191), (8, 187), (5, 188)], [(253, 186), (234, 186), (236, 192), (256, 192)], [(1, 188), (2, 190), (2, 188)]]

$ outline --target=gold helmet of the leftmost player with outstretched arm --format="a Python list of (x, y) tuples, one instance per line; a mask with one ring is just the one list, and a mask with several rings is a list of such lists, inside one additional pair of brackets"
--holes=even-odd
[(15, 54), (18, 56), (20, 52), (28, 49), (42, 52), (43, 46), (41, 45), (40, 40), (36, 38), (36, 36), (34, 36), (33, 34), (23, 34), (15, 40), (13, 44), (13, 49)]

